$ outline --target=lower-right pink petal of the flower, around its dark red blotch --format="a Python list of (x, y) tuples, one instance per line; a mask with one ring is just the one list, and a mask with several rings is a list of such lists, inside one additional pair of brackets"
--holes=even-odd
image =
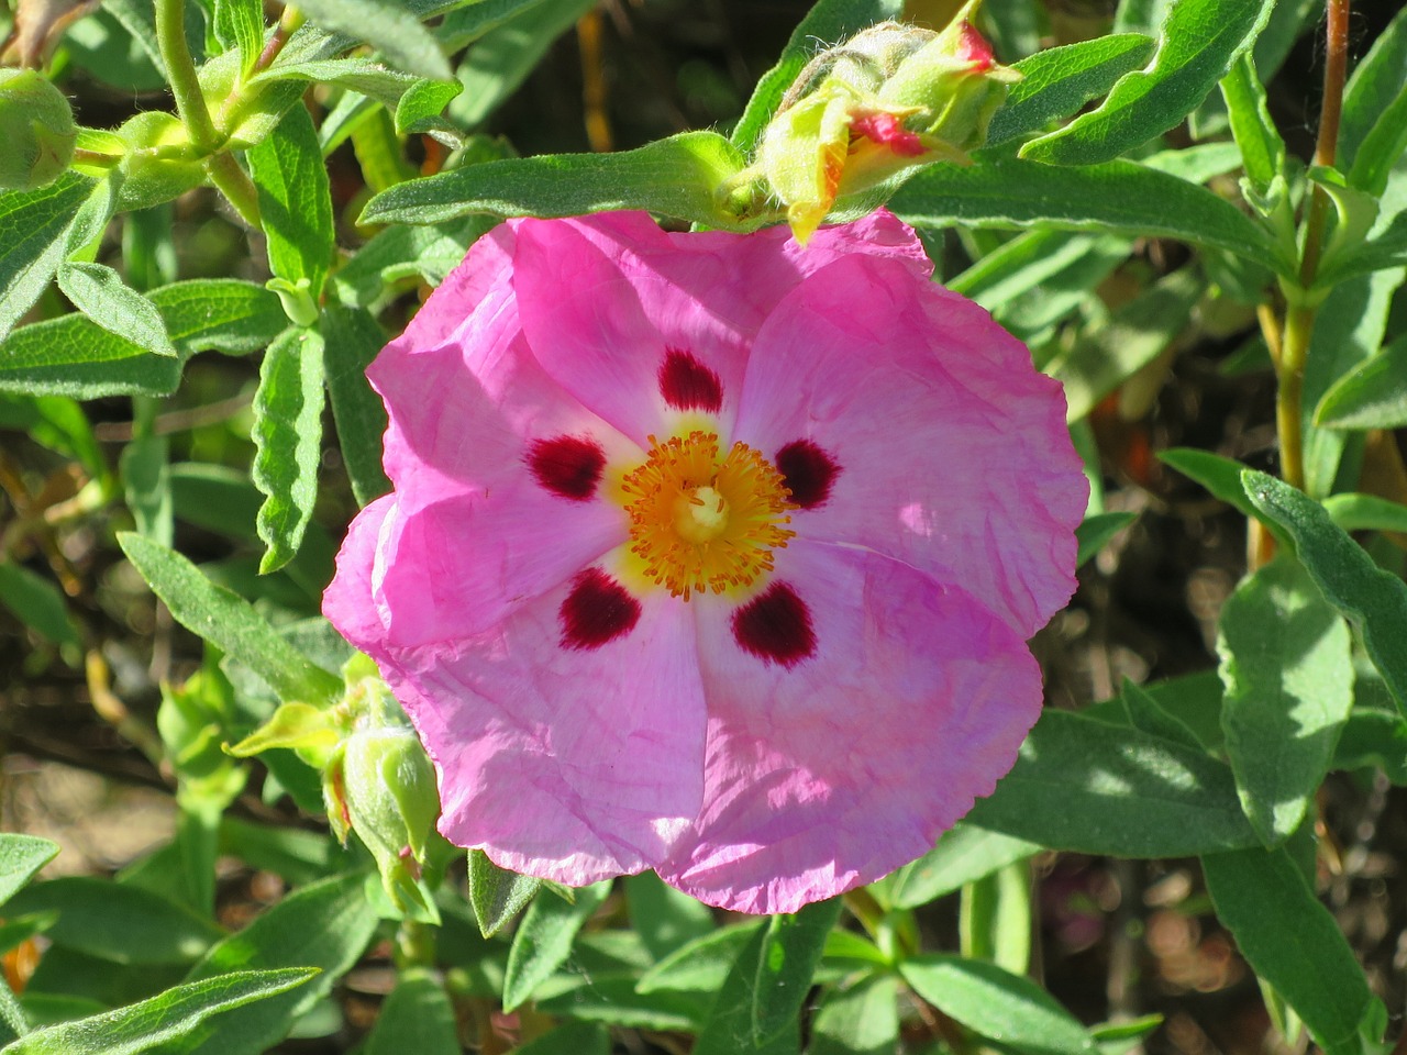
[(795, 912), (933, 847), (991, 793), (1041, 708), (1024, 641), (968, 594), (881, 554), (795, 542), (777, 578), (815, 653), (739, 647), (701, 605), (709, 729), (704, 810), (656, 869), (709, 904)]

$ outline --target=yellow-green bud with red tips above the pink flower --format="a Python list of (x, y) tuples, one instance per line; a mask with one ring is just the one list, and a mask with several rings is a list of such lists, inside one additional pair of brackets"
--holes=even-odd
[(757, 167), (805, 242), (832, 211), (865, 212), (936, 160), (968, 163), (1014, 72), (968, 15), (943, 32), (881, 23), (827, 49), (763, 134)]

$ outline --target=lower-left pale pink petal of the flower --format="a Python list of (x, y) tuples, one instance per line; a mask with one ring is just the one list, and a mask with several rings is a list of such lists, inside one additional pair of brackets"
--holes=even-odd
[(568, 648), (567, 591), (453, 647), (370, 654), (435, 762), (440, 831), (580, 886), (651, 865), (696, 814), (705, 712), (687, 606), (654, 594), (629, 633)]

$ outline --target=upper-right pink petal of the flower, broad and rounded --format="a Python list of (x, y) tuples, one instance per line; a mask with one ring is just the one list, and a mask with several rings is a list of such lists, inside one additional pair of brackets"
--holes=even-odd
[(1088, 485), (1059, 384), (976, 304), (899, 264), (840, 259), (768, 318), (737, 432), (809, 440), (839, 473), (805, 539), (865, 546), (961, 587), (1023, 637), (1075, 588)]

